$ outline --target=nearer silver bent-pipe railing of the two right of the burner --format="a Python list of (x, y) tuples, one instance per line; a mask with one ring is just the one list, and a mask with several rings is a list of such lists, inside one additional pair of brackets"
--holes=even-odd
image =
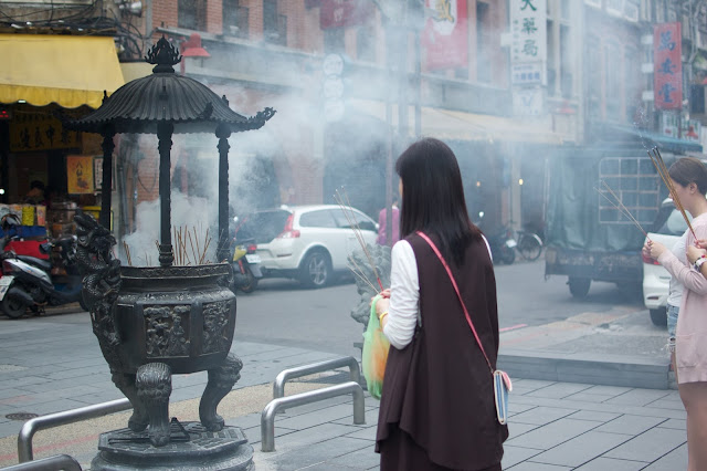
[(261, 415), (261, 450), (275, 451), (275, 414), (285, 407), (303, 406), (317, 400), (329, 399), (345, 394), (354, 395), (354, 423), (366, 423), (366, 410), (363, 402), (363, 389), (356, 381), (347, 381), (340, 385), (329, 386), (306, 393), (295, 394), (271, 400)]

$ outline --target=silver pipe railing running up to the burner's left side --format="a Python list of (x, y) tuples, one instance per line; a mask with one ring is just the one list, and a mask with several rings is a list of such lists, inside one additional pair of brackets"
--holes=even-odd
[(95, 419), (96, 417), (107, 416), (108, 414), (122, 412), (131, 407), (130, 401), (123, 398), (30, 419), (24, 422), (20, 435), (18, 435), (18, 461), (25, 463), (33, 460), (32, 438), (39, 430), (65, 426), (85, 419)]

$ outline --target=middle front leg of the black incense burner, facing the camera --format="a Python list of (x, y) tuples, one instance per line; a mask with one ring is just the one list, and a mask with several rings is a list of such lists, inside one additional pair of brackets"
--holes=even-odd
[(172, 371), (163, 363), (148, 363), (138, 368), (135, 384), (138, 399), (149, 415), (148, 435), (155, 447), (169, 443), (169, 396), (172, 393)]

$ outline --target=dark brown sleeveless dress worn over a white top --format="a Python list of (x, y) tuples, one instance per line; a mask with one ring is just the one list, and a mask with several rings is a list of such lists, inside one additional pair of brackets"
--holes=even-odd
[[(419, 236), (405, 240), (418, 262), (422, 327), (405, 348), (390, 348), (376, 437), (380, 469), (500, 470), (508, 428), (496, 419), (486, 360), (437, 257)], [(484, 241), (469, 244), (463, 266), (450, 268), (495, 365), (496, 280)]]

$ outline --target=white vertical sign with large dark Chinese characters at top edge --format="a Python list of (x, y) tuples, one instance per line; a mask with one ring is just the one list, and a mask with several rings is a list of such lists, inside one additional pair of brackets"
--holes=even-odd
[(544, 62), (548, 56), (547, 0), (510, 0), (510, 59)]

